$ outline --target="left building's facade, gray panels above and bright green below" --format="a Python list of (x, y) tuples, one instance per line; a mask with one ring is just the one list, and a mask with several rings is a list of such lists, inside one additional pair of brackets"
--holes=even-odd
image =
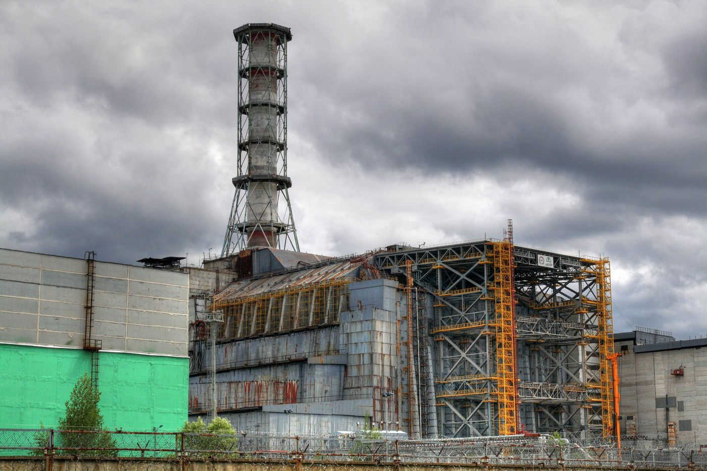
[(108, 429), (180, 429), (189, 274), (88, 259), (0, 249), (0, 427), (56, 426), (88, 373)]

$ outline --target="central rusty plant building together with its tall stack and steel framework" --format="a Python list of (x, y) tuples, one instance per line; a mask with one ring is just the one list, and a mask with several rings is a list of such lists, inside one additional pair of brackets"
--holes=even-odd
[[(503, 240), (299, 252), (287, 175), (289, 28), (238, 43), (238, 152), (221, 257), (191, 320), (189, 413), (238, 429), (412, 437), (614, 433), (609, 260)], [(218, 330), (214, 325), (222, 316)], [(211, 371), (211, 373), (209, 373)]]

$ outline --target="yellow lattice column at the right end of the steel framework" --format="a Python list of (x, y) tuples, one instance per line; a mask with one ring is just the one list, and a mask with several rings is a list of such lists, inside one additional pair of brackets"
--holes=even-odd
[(602, 430), (604, 438), (614, 431), (614, 388), (612, 358), (614, 338), (612, 322), (612, 281), (609, 260), (597, 261), (597, 340), (599, 342), (600, 392), (602, 400)]

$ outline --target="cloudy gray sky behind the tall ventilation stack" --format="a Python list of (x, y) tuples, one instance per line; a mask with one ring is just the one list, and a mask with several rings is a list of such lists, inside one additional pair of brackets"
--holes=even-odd
[(292, 28), (302, 250), (612, 260), (615, 330), (707, 334), (707, 2), (0, 2), (0, 246), (220, 252), (243, 23)]

